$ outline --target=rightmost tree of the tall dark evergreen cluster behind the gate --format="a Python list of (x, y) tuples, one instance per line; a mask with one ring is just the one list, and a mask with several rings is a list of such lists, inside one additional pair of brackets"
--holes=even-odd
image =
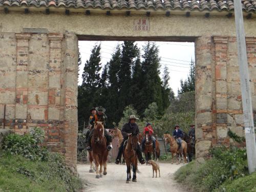
[(162, 82), (160, 78), (160, 57), (159, 50), (156, 45), (148, 42), (143, 47), (142, 55), (142, 71), (143, 71), (143, 97), (141, 102), (144, 106), (148, 106), (152, 102), (156, 102), (159, 112), (163, 111), (162, 102)]

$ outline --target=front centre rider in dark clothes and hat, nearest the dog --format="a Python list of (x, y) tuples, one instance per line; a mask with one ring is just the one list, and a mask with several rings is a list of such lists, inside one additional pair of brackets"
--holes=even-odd
[[(136, 124), (136, 119), (138, 119), (135, 115), (131, 115), (129, 118), (129, 122), (125, 123), (122, 127), (122, 135), (123, 135), (123, 141), (118, 149), (118, 155), (116, 157), (116, 164), (120, 163), (120, 159), (122, 156), (122, 152), (123, 152), (123, 145), (125, 140), (128, 139), (128, 134), (133, 134), (133, 135), (138, 135), (140, 133), (139, 127)], [(139, 146), (139, 143), (137, 144), (137, 151), (136, 151), (137, 155), (138, 155), (138, 159), (140, 161), (141, 164), (145, 163), (145, 160), (142, 157), (142, 153), (141, 153), (141, 148)]]

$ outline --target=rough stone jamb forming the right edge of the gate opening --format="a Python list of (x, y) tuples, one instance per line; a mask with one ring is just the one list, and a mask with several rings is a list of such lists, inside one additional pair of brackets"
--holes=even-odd
[(210, 36), (198, 37), (196, 49), (196, 157), (205, 157), (215, 138), (214, 61)]

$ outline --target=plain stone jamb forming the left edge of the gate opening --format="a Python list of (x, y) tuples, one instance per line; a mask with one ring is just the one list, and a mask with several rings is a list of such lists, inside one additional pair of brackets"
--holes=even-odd
[(63, 45), (63, 88), (64, 98), (64, 133), (66, 145), (66, 163), (76, 172), (77, 156), (77, 77), (78, 77), (78, 38), (75, 34), (66, 33)]

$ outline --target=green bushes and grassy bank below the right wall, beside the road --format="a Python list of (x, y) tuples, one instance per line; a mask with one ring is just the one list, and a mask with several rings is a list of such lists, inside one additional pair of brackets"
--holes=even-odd
[(247, 174), (245, 150), (236, 147), (215, 147), (212, 158), (205, 163), (197, 161), (181, 167), (175, 174), (178, 182), (191, 191), (214, 191), (225, 181), (235, 180)]

